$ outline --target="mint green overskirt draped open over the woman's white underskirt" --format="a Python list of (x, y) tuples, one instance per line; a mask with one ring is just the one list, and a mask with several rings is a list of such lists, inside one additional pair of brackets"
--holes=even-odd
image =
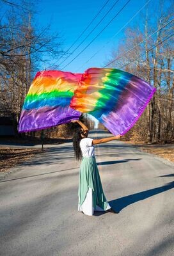
[(83, 157), (81, 161), (78, 190), (79, 205), (83, 204), (89, 188), (92, 189), (92, 204), (94, 211), (97, 206), (106, 211), (109, 204), (102, 189), (102, 183), (95, 157)]

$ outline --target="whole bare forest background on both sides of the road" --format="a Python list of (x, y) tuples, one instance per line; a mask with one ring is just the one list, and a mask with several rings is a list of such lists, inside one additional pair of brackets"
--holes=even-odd
[[(173, 1), (157, 1), (157, 5), (139, 12), (141, 24), (127, 26), (116, 47), (101, 67), (113, 67), (141, 77), (157, 88), (153, 99), (126, 140), (170, 143), (174, 140), (173, 79)], [(48, 59), (65, 58), (59, 33), (51, 33), (51, 25), (35, 26), (38, 13), (35, 1), (1, 0), (0, 20), (0, 116), (13, 120), (17, 137), (39, 138), (41, 131), (18, 134), (17, 124), (26, 94), (38, 67)], [(154, 13), (154, 15), (152, 15)], [(52, 69), (59, 69), (58, 65)], [(84, 114), (81, 120), (90, 129), (95, 122)], [(105, 129), (102, 124), (99, 128)], [(59, 125), (42, 133), (47, 138), (69, 138), (75, 126)]]

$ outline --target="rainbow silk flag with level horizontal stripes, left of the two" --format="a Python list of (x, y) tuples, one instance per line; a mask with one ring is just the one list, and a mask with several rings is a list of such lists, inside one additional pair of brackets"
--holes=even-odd
[(37, 72), (24, 100), (18, 131), (37, 131), (79, 119), (81, 113), (70, 108), (70, 101), (81, 76), (56, 70)]

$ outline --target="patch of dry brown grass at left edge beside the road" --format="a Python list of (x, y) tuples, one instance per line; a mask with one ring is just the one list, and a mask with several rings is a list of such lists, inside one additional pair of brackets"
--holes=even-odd
[(40, 152), (42, 152), (40, 148), (0, 147), (0, 172), (6, 172), (16, 164), (24, 163)]

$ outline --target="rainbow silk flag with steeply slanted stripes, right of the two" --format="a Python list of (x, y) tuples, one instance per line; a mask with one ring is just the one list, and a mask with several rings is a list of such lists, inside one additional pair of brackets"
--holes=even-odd
[(81, 77), (70, 107), (95, 116), (115, 134), (138, 121), (156, 89), (139, 77), (114, 68), (89, 68)]

